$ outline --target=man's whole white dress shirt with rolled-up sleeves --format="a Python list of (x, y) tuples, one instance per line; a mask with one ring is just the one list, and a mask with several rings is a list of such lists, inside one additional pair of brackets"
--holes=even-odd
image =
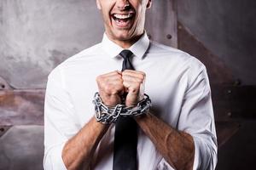
[[(134, 54), (131, 58), (134, 68), (146, 73), (145, 93), (152, 100), (151, 112), (177, 130), (192, 135), (193, 169), (214, 169), (217, 139), (205, 66), (176, 48), (150, 42), (146, 33), (129, 49)], [(44, 105), (45, 169), (66, 169), (61, 159), (63, 146), (94, 116), (96, 77), (121, 70), (122, 50), (104, 35), (101, 43), (67, 59), (49, 74)], [(93, 169), (112, 169), (113, 134), (114, 125), (96, 149)], [(142, 130), (137, 159), (139, 170), (172, 169)]]

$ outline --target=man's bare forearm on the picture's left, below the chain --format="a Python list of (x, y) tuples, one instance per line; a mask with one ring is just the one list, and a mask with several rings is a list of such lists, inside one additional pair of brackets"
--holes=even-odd
[(67, 169), (88, 169), (96, 146), (108, 130), (108, 125), (90, 119), (84, 127), (69, 139), (62, 150), (62, 159)]

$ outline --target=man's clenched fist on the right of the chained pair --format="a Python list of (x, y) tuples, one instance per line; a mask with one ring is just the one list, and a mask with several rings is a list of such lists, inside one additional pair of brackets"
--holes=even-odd
[(144, 96), (146, 74), (143, 71), (125, 70), (122, 79), (127, 93), (125, 105), (137, 105)]

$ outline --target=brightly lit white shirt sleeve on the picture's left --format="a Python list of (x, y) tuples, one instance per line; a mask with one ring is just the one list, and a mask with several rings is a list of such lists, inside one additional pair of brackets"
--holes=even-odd
[(64, 88), (58, 67), (49, 74), (44, 101), (44, 169), (67, 169), (61, 152), (78, 127), (73, 120), (74, 107)]

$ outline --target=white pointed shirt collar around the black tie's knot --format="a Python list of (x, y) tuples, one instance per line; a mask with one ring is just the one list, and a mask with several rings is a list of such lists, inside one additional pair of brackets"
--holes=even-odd
[[(149, 46), (149, 39), (147, 36), (147, 33), (144, 32), (143, 37), (141, 37), (137, 42), (135, 42), (129, 50), (137, 56), (138, 58), (142, 59), (143, 55), (146, 53)], [(105, 52), (111, 57), (115, 58), (119, 56), (119, 53), (121, 53), (124, 48), (121, 48), (118, 44), (112, 42), (106, 33), (104, 33), (102, 38), (102, 48), (105, 50)]]

